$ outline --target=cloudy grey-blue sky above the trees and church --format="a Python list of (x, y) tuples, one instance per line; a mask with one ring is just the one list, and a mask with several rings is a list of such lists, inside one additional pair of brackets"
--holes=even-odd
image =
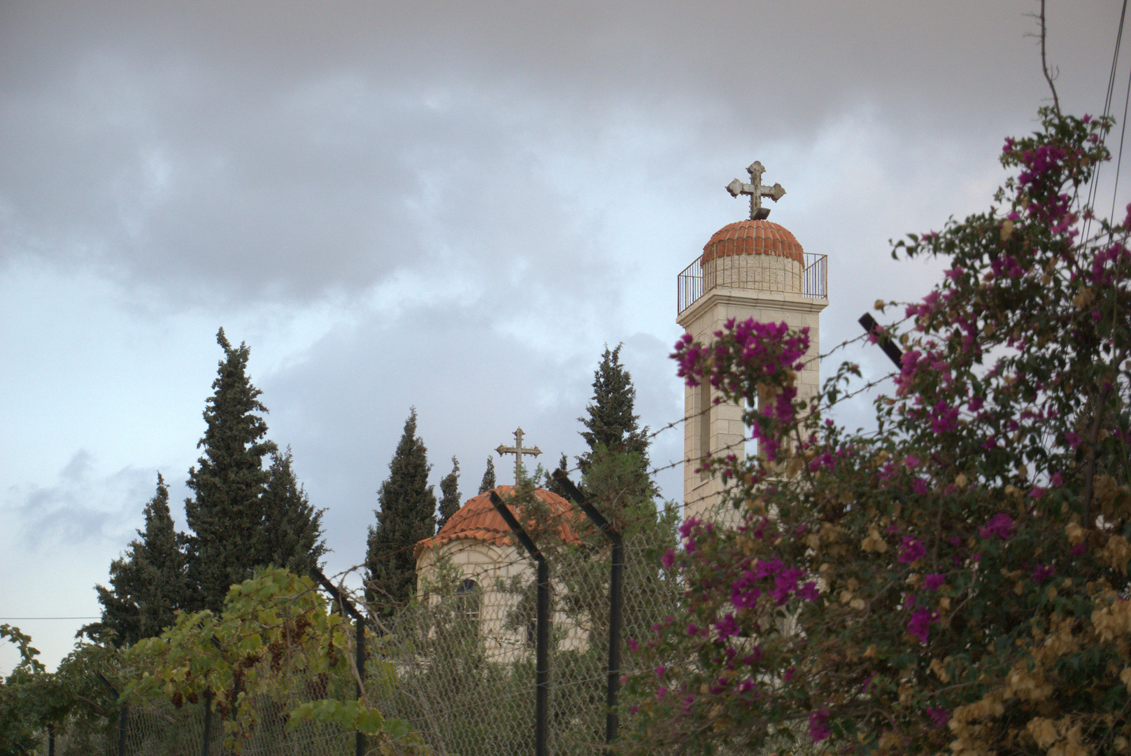
[[(1034, 8), (0, 5), (0, 621), (97, 615), (157, 471), (183, 524), (221, 326), (334, 570), (412, 405), (465, 493), (517, 426), (581, 452), (605, 344), (642, 422), (677, 420), (675, 276), (744, 216), (723, 187), (756, 158), (788, 191), (771, 220), (829, 256), (822, 346), (856, 336), (940, 269), (888, 240), (984, 208), (1031, 130)], [(1102, 111), (1119, 10), (1050, 2), (1065, 110)], [(668, 431), (653, 461), (681, 453)], [(84, 620), (15, 624), (53, 665)]]

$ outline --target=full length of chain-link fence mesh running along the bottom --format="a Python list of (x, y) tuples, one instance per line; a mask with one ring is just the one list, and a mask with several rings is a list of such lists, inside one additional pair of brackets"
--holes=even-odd
[[(612, 549), (576, 508), (525, 514), (533, 517), (530, 535), (546, 559), (551, 586), (547, 753), (594, 754), (604, 745), (608, 711)], [(675, 613), (682, 591), (659, 565), (675, 545), (677, 515), (649, 505), (621, 512), (616, 525), (624, 544), (624, 645), (653, 635), (656, 622)], [(535, 574), (529, 555), (511, 538), (450, 544), (422, 570), (414, 602), (385, 618), (370, 615), (377, 619), (366, 633), (369, 702), (387, 719), (407, 721), (440, 756), (534, 754)], [(631, 654), (623, 655), (621, 669), (633, 671)], [(110, 718), (57, 725), (53, 754), (218, 755), (232, 753), (233, 736), (247, 756), (354, 754), (354, 733), (339, 727), (287, 727), (297, 704), (333, 695), (353, 697), (353, 678), (290, 680), (273, 697), (245, 699), (253, 723), (227, 731), (226, 742), (223, 719), (206, 716), (201, 699), (135, 703)], [(622, 725), (630, 704), (622, 701)], [(369, 753), (375, 746), (370, 742)], [(50, 750), (44, 733), (36, 753)]]

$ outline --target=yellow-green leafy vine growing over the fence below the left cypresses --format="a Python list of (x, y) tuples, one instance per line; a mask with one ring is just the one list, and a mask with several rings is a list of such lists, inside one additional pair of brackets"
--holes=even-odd
[[(182, 613), (161, 637), (126, 652), (138, 672), (123, 691), (131, 699), (209, 702), (224, 721), (226, 746), (240, 753), (258, 725), (260, 699), (290, 702), (290, 725), (329, 722), (378, 738), (382, 753), (415, 742), (399, 720), (387, 720), (363, 690), (354, 695), (353, 634), (330, 613), (310, 578), (277, 567), (233, 585), (224, 611)], [(370, 673), (390, 679), (387, 662)]]

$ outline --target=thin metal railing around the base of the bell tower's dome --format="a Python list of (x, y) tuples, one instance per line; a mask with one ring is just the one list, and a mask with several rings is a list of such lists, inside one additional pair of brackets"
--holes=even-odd
[(800, 282), (793, 276), (783, 278), (779, 270), (771, 272), (768, 268), (768, 264), (776, 264), (776, 268), (788, 258), (775, 255), (727, 255), (708, 263), (708, 267), (711, 269), (708, 270), (706, 285), (702, 257), (697, 257), (676, 277), (677, 313), (682, 313), (716, 286), (800, 293), (809, 299), (828, 298), (829, 256), (812, 252), (803, 252), (802, 255), (804, 256), (804, 265), (800, 272)]

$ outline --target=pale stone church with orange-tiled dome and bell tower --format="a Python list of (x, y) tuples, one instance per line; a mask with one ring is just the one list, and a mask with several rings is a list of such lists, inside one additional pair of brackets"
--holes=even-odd
[[(734, 179), (726, 190), (733, 196), (750, 198), (750, 217), (729, 223), (716, 231), (703, 246), (702, 254), (676, 277), (676, 323), (700, 342), (710, 341), (716, 330), (731, 318), (761, 323), (786, 323), (792, 329), (809, 328), (810, 347), (805, 367), (797, 377), (797, 397), (817, 394), (820, 385), (820, 313), (828, 306), (824, 255), (806, 252), (796, 237), (784, 226), (768, 221), (769, 208), (762, 199), (775, 203), (785, 195), (782, 184), (762, 184), (766, 169), (754, 162), (746, 171), (750, 181)], [(673, 378), (674, 379), (674, 378)], [(698, 473), (699, 461), (707, 456), (735, 454), (743, 456), (749, 448), (742, 409), (735, 404), (715, 403), (709, 384), (684, 387), (683, 418), (683, 516), (715, 517), (724, 483), (706, 473)], [(516, 433), (512, 447), (500, 446), (500, 456), (513, 454), (516, 471), (524, 454), (536, 455), (537, 447), (523, 446), (523, 429)], [(510, 486), (495, 491), (503, 499)], [(537, 489), (537, 496), (560, 522), (563, 541), (576, 539), (571, 523), (580, 514), (562, 497)], [(447, 558), (458, 569), (463, 584), (459, 591), (475, 595), (474, 619), (480, 621), (480, 636), (489, 645), (520, 648), (530, 644), (529, 629), (507, 629), (501, 617), (503, 604), (511, 594), (495, 589), (500, 581), (528, 576), (533, 566), (525, 558), (502, 516), (491, 504), (490, 493), (468, 499), (432, 538), (416, 544), (417, 587), (426, 582), (440, 558)], [(481, 620), (482, 617), (482, 620)], [(572, 629), (566, 630), (567, 635)], [(580, 637), (580, 632), (578, 632)]]

